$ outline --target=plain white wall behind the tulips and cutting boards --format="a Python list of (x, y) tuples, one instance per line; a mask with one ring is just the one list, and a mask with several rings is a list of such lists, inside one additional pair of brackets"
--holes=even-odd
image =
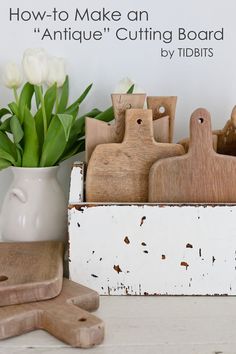
[[(149, 11), (149, 22), (128, 23), (53, 23), (50, 19), (42, 23), (9, 22), (9, 7), (23, 10), (67, 10), (76, 7), (99, 10), (106, 7), (125, 14), (128, 10)], [(213, 127), (221, 128), (228, 119), (236, 103), (236, 27), (235, 0), (9, 0), (0, 3), (0, 66), (7, 60), (21, 60), (24, 49), (44, 47), (52, 55), (63, 56), (67, 60), (71, 77), (71, 100), (90, 82), (94, 88), (83, 106), (83, 111), (97, 106), (110, 105), (110, 93), (123, 77), (133, 78), (149, 95), (177, 95), (175, 140), (188, 134), (188, 120), (191, 112), (206, 107), (212, 113)], [(161, 42), (119, 42), (112, 36), (103, 41), (86, 42), (80, 45), (70, 41), (41, 41), (33, 33), (34, 27), (50, 29), (112, 29), (129, 25), (130, 28), (152, 27), (160, 30), (176, 30), (186, 27), (194, 30), (225, 29), (225, 39), (219, 42), (185, 42), (165, 45), (166, 49), (178, 46), (213, 47), (213, 58), (175, 58), (171, 61), (160, 57)], [(6, 105), (11, 92), (1, 88), (0, 105)], [(61, 169), (60, 179), (65, 190), (68, 189), (68, 176), (71, 161)], [(11, 181), (8, 170), (0, 173), (0, 205)]]

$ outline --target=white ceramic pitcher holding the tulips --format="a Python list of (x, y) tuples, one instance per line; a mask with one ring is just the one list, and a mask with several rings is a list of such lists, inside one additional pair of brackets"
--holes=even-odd
[(11, 169), (14, 180), (0, 215), (3, 240), (65, 240), (67, 203), (57, 180), (58, 167)]

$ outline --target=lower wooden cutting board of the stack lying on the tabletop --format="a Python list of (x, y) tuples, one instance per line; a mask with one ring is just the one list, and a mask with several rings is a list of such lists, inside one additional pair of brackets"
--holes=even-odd
[(64, 279), (55, 299), (1, 307), (0, 339), (43, 329), (73, 347), (92, 347), (104, 338), (104, 323), (87, 312), (98, 306), (95, 291)]

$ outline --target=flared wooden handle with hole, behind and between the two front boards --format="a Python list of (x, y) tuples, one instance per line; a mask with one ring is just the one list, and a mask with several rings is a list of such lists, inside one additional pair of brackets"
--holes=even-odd
[[(147, 108), (153, 111), (153, 120), (163, 120), (168, 116), (168, 124), (165, 122), (162, 128), (162, 139), (157, 141), (163, 143), (172, 143), (174, 135), (175, 111), (177, 97), (176, 96), (148, 96)], [(166, 119), (165, 119), (166, 120)], [(157, 129), (158, 130), (158, 129)]]

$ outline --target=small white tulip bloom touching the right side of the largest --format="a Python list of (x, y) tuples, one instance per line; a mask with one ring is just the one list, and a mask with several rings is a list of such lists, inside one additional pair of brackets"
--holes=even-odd
[(55, 83), (61, 87), (66, 79), (65, 61), (63, 58), (52, 57), (48, 61), (47, 84), (52, 86)]

